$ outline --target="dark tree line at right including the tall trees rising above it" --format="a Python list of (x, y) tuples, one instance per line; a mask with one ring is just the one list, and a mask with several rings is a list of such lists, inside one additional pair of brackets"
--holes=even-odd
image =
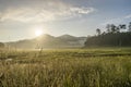
[[(124, 32), (122, 32), (124, 30)], [(131, 46), (131, 22), (126, 24), (107, 24), (106, 32), (103, 32), (97, 28), (95, 36), (87, 37), (85, 41), (85, 47), (97, 46), (118, 46), (118, 47), (130, 47)]]

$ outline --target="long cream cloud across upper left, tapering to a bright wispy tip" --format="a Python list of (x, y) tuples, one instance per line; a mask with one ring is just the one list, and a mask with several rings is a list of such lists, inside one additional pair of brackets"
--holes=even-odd
[(57, 3), (52, 0), (45, 0), (43, 3), (39, 3), (39, 5), (36, 3), (37, 7), (26, 5), (5, 9), (0, 12), (0, 21), (49, 22), (82, 16), (96, 11), (94, 8), (73, 7), (59, 0), (57, 0)]

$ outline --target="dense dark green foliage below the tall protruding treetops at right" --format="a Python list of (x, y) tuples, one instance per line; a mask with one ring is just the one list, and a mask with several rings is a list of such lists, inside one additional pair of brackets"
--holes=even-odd
[(131, 47), (131, 33), (105, 34), (87, 38), (85, 47)]

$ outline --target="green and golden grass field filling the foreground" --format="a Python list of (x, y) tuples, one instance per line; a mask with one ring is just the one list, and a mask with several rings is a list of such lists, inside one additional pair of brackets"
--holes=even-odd
[(131, 48), (1, 50), (0, 87), (131, 87)]

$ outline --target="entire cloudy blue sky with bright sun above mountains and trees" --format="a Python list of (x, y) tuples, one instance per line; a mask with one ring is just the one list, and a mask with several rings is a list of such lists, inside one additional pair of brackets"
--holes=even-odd
[[(0, 41), (94, 35), (97, 27), (131, 21), (131, 0), (0, 0)], [(104, 30), (104, 28), (103, 28)]]

